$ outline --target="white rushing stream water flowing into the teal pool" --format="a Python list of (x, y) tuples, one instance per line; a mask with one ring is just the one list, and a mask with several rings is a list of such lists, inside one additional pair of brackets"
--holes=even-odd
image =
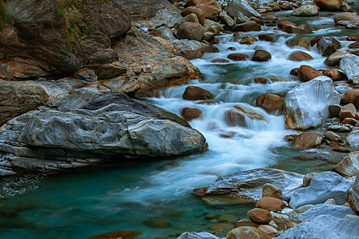
[[(291, 12), (276, 15), (286, 19)], [(332, 16), (291, 18), (293, 22), (317, 27), (309, 39), (322, 34), (347, 36), (355, 31), (334, 27)], [(315, 167), (319, 161), (301, 161), (297, 155), (329, 156), (325, 149), (292, 150), (283, 137), (291, 133), (284, 128), (283, 115), (271, 115), (256, 107), (256, 98), (274, 93), (285, 94), (299, 83), (289, 72), (302, 64), (327, 68), (317, 49), (310, 51), (300, 46), (290, 47), (286, 42), (293, 34), (263, 27), (261, 32), (243, 33), (257, 36), (268, 33), (276, 42), (239, 44), (232, 34), (223, 33), (217, 47), (220, 53), (209, 53), (192, 63), (203, 73), (201, 79), (191, 81), (207, 89), (214, 100), (183, 100), (188, 85), (171, 87), (158, 92), (148, 102), (181, 115), (185, 107), (202, 110), (200, 119), (194, 119), (196, 128), (209, 144), (204, 154), (149, 162), (129, 162), (126, 165), (105, 165), (78, 172), (55, 176), (27, 175), (8, 178), (1, 182), (0, 238), (89, 238), (115, 230), (138, 230), (137, 238), (176, 238), (182, 231), (213, 231), (215, 219), (204, 217), (208, 212), (233, 214), (245, 218), (253, 205), (209, 205), (191, 193), (193, 188), (207, 186), (217, 176), (258, 167), (272, 167), (308, 173), (330, 169), (330, 165)], [(241, 36), (242, 37), (242, 36)], [(241, 38), (240, 37), (240, 38)], [(351, 42), (342, 41), (343, 48)], [(235, 47), (236, 51), (227, 50)], [(211, 63), (211, 59), (226, 58), (230, 53), (252, 55), (256, 49), (271, 53), (267, 62), (237, 61)], [(289, 61), (292, 51), (301, 50), (313, 60)], [(255, 77), (267, 77), (270, 84), (253, 83)], [(246, 119), (245, 127), (229, 127), (224, 113), (233, 106), (263, 115), (265, 120)], [(225, 138), (223, 135), (230, 135)], [(150, 226), (151, 219), (161, 219), (163, 228)]]

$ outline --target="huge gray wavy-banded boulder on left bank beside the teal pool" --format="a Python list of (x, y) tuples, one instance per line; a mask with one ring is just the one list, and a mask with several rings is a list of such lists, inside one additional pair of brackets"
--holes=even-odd
[(205, 150), (184, 119), (118, 94), (80, 89), (57, 107), (29, 111), (0, 131), (2, 174), (57, 171), (105, 160), (168, 157)]

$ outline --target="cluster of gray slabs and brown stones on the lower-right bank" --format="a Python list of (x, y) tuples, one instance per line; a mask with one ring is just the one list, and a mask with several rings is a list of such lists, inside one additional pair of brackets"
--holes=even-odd
[[(235, 227), (228, 231), (227, 239), (326, 238), (328, 234), (354, 238), (359, 229), (359, 180), (344, 177), (359, 173), (358, 157), (358, 152), (351, 153), (338, 164), (349, 174), (325, 171), (300, 175), (278, 169), (253, 169), (221, 176), (207, 188), (194, 189), (194, 193), (209, 203), (256, 202), (256, 208), (248, 211), (248, 219), (227, 220), (235, 223), (227, 224), (227, 231)], [(230, 216), (220, 219), (226, 221), (232, 219)], [(226, 230), (224, 225), (211, 228), (217, 235)], [(202, 234), (186, 232), (179, 238), (219, 238)]]

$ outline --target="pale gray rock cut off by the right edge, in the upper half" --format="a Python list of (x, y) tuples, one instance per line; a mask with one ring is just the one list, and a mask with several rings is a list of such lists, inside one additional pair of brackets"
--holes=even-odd
[(359, 84), (359, 57), (354, 54), (347, 54), (341, 59), (339, 64), (341, 70), (347, 75), (349, 81)]

